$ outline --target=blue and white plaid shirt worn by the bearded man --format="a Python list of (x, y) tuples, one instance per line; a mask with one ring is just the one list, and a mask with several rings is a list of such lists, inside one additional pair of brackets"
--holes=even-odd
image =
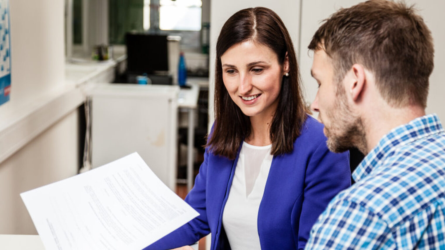
[(445, 132), (437, 115), (392, 129), (329, 203), (306, 249), (445, 250)]

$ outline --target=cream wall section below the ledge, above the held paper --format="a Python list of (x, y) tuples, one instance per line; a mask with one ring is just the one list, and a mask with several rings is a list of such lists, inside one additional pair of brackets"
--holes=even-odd
[(0, 164), (0, 234), (37, 234), (20, 193), (77, 173), (77, 112)]

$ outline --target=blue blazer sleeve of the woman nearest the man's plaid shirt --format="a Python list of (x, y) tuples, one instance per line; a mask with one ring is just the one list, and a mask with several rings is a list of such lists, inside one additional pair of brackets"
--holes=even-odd
[(326, 141), (310, 156), (299, 219), (298, 249), (304, 249), (312, 226), (336, 194), (351, 185), (349, 152), (332, 153)]

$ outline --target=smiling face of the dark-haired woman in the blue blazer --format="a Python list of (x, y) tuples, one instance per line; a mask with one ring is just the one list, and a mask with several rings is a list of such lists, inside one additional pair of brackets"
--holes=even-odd
[(286, 59), (280, 65), (269, 47), (251, 40), (235, 44), (221, 56), (223, 81), (230, 97), (249, 117), (271, 118), (278, 105)]

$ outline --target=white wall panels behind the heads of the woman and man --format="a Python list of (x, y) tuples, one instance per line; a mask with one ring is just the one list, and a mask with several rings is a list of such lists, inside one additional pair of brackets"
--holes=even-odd
[[(219, 31), (223, 23), (236, 11), (255, 6), (264, 6), (273, 9), (283, 19), (284, 24), (289, 29), (294, 43), (295, 51), (299, 55), (299, 66), (305, 89), (305, 97), (308, 104), (311, 104), (317, 92), (317, 84), (311, 77), (312, 52), (307, 50), (307, 45), (316, 32), (320, 23), (328, 18), (332, 13), (341, 7), (348, 8), (362, 0), (298, 0), (298, 1), (267, 1), (267, 0), (247, 0), (247, 1), (216, 1), (211, 0), (210, 5), (210, 91), (209, 91), (209, 128), (214, 121), (213, 95), (214, 95), (214, 60), (215, 46)], [(430, 88), (428, 97), (427, 113), (437, 113), (442, 121), (445, 121), (445, 29), (443, 23), (445, 16), (445, 1), (437, 0), (407, 0), (408, 4), (416, 4), (421, 16), (433, 33), (435, 57), (434, 70), (430, 77)], [(301, 4), (301, 11), (300, 11)], [(301, 19), (300, 19), (301, 12)], [(299, 22), (301, 20), (301, 26)], [(299, 30), (301, 27), (301, 30)]]

